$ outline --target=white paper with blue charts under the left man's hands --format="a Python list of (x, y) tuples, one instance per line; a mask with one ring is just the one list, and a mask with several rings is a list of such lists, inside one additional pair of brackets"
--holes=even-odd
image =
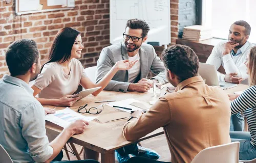
[(52, 123), (55, 123), (63, 128), (67, 127), (71, 122), (77, 120), (77, 119), (83, 119), (86, 121), (92, 121), (96, 119), (95, 116), (83, 116), (80, 115), (73, 110), (71, 110), (69, 107), (66, 107), (63, 110), (56, 111), (54, 114), (48, 114), (46, 115), (46, 120), (50, 121)]

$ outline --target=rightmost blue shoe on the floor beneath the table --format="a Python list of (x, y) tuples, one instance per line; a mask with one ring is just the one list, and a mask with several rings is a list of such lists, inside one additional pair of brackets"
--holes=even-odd
[(160, 155), (156, 151), (141, 146), (138, 146), (138, 151), (133, 151), (131, 152), (131, 154), (154, 160), (157, 160), (160, 157)]

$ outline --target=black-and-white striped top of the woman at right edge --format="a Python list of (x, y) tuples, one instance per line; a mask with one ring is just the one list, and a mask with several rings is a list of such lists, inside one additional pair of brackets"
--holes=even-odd
[(251, 144), (256, 147), (256, 86), (245, 90), (231, 102), (231, 114), (244, 112), (251, 134)]

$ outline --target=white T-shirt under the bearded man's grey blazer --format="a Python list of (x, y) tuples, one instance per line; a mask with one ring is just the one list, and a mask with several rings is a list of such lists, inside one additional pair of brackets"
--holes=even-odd
[(128, 73), (129, 73), (128, 82), (129, 83), (134, 83), (135, 79), (140, 74), (140, 54), (139, 54), (139, 51), (134, 57), (128, 57), (128, 58), (129, 58), (130, 61), (138, 60), (138, 62), (136, 62), (134, 64), (134, 66), (131, 69), (128, 70)]

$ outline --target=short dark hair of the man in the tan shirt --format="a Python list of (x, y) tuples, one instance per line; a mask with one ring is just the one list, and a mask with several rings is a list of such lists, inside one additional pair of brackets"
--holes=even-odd
[(165, 67), (178, 76), (180, 82), (198, 75), (199, 60), (193, 49), (185, 45), (172, 45), (162, 52)]

